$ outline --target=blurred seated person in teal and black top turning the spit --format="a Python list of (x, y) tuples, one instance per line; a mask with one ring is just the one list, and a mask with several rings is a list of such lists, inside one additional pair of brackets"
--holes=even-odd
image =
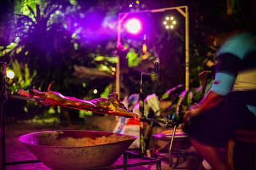
[(183, 131), (206, 160), (206, 166), (200, 168), (227, 170), (220, 148), (227, 146), (237, 129), (256, 129), (255, 34), (230, 33), (216, 60), (212, 88), (199, 104), (186, 111)]

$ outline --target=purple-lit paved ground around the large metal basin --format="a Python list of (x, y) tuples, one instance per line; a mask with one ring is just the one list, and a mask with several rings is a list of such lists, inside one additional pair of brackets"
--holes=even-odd
[[(105, 124), (104, 124), (105, 125)], [(94, 126), (95, 127), (95, 126)], [(99, 127), (95, 127), (96, 129), (102, 131)], [(18, 141), (19, 136), (23, 134), (28, 134), (31, 132), (39, 132), (39, 131), (51, 131), (51, 130), (92, 130), (92, 127), (86, 127), (84, 124), (72, 124), (66, 126), (58, 126), (52, 124), (24, 124), (24, 123), (6, 123), (6, 162), (16, 162), (23, 160), (33, 160), (36, 157), (33, 153), (29, 152), (29, 150)], [(106, 129), (105, 129), (106, 130)], [(189, 148), (193, 150), (192, 148)], [(128, 159), (128, 164), (140, 162), (140, 159)], [(177, 162), (178, 161), (178, 162)], [(177, 164), (176, 164), (177, 163)], [(122, 164), (122, 157), (118, 159), (115, 164)], [(198, 157), (195, 155), (188, 155), (186, 160), (182, 157), (173, 156), (173, 164), (176, 164), (175, 167), (168, 166), (168, 160), (162, 159), (161, 161), (161, 169), (196, 169), (198, 166)], [(41, 162), (33, 163), (33, 164), (17, 164), (15, 166), (6, 166), (7, 170), (20, 169), (20, 170), (28, 170), (28, 169), (50, 169), (45, 166)], [(139, 167), (129, 167), (128, 169), (156, 169), (154, 165), (147, 166), (139, 166)]]

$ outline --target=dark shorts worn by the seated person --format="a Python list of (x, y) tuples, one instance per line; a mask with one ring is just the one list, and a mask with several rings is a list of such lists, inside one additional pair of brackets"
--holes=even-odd
[(205, 145), (223, 148), (237, 129), (256, 130), (256, 117), (246, 104), (223, 101), (216, 108), (192, 117), (183, 131)]

